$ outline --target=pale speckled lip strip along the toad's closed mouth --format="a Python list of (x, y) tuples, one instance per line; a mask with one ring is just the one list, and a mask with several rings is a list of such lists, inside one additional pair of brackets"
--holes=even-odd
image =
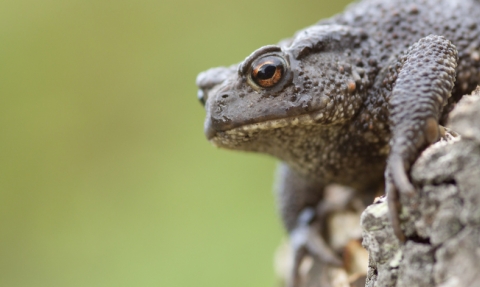
[(323, 109), (303, 115), (271, 119), (258, 123), (248, 123), (227, 130), (215, 130), (210, 121), (207, 120), (205, 124), (205, 135), (207, 136), (207, 139), (214, 145), (223, 146), (222, 142), (225, 139), (229, 139), (229, 141), (249, 141), (252, 138), (252, 135), (261, 131), (269, 131), (294, 126), (327, 126), (334, 122), (335, 124), (339, 123), (338, 121), (335, 121), (334, 117), (327, 117)]

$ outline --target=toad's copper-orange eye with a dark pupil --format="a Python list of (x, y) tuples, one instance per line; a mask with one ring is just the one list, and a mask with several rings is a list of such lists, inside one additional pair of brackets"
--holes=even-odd
[(262, 88), (273, 87), (285, 73), (285, 62), (278, 56), (267, 56), (253, 62), (250, 77)]

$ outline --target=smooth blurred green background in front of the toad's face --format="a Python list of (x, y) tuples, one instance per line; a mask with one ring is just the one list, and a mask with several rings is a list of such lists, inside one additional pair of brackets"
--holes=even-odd
[(275, 160), (195, 77), (347, 2), (2, 0), (0, 286), (273, 286)]

